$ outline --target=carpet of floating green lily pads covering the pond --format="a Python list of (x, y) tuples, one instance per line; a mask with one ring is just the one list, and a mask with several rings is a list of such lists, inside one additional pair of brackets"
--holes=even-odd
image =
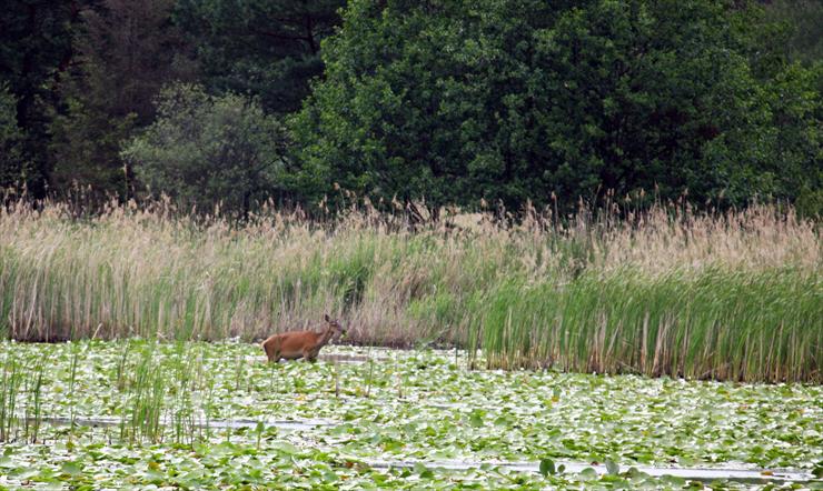
[[(465, 352), (430, 350), (328, 347), (317, 363), (266, 363), (259, 345), (240, 342), (0, 349), (22, 378), (40, 373), (31, 361), (49, 363), (39, 437), (11, 427), (0, 487), (675, 489), (686, 482), (629, 469), (819, 472), (823, 460), (820, 385), (468, 370)], [(20, 414), (33, 403), (23, 385)], [(432, 464), (449, 460), (478, 467)], [(546, 475), (494, 464), (505, 461), (545, 461)], [(548, 472), (563, 461), (619, 472)]]

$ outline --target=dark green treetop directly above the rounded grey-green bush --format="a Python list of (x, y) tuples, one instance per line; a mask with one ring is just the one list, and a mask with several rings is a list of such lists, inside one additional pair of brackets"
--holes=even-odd
[(260, 97), (267, 111), (292, 112), (323, 73), (320, 41), (344, 0), (181, 0), (175, 20), (197, 46), (212, 91)]

